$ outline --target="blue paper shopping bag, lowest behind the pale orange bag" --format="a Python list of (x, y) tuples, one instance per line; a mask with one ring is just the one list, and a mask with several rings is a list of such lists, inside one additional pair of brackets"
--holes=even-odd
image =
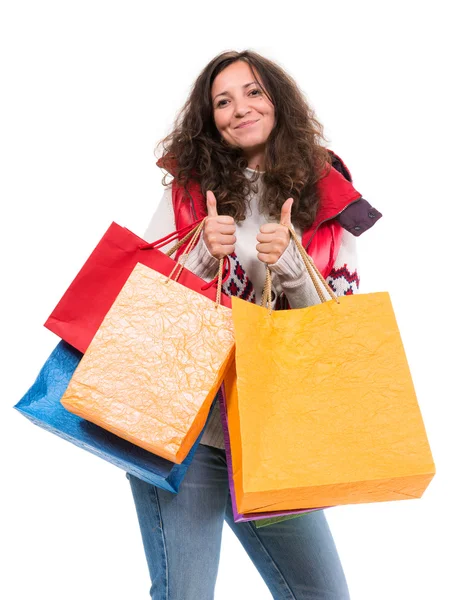
[(65, 410), (60, 398), (81, 357), (81, 352), (66, 342), (59, 342), (36, 381), (14, 408), (46, 431), (147, 483), (176, 493), (191, 464), (200, 438), (184, 462), (175, 465)]

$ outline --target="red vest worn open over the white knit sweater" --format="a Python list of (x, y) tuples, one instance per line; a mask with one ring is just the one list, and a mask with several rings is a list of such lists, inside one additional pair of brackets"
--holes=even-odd
[[(160, 161), (157, 164), (161, 164)], [(342, 164), (346, 169), (344, 163)], [(317, 216), (313, 224), (304, 231), (302, 245), (323, 277), (327, 277), (335, 263), (343, 235), (343, 228), (335, 217), (359, 200), (361, 194), (333, 167), (318, 181), (317, 190), (320, 195)], [(172, 199), (176, 229), (183, 229), (207, 215), (206, 200), (199, 183), (189, 182), (188, 192), (189, 196), (184, 188), (173, 180)], [(179, 253), (183, 249), (184, 247), (180, 248)]]

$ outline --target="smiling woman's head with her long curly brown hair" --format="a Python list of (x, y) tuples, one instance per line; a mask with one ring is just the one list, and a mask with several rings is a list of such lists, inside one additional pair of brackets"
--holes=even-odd
[(183, 187), (196, 173), (202, 193), (214, 192), (219, 212), (237, 222), (257, 182), (263, 212), (279, 219), (293, 198), (292, 222), (307, 228), (318, 209), (316, 183), (332, 162), (324, 142), (323, 126), (279, 65), (256, 52), (224, 52), (196, 79), (159, 165)]

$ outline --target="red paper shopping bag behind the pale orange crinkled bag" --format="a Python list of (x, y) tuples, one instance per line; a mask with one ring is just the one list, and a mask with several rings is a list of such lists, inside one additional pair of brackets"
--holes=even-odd
[[(194, 225), (147, 244), (129, 229), (112, 223), (99, 241), (82, 269), (72, 281), (45, 326), (80, 352), (85, 352), (116, 296), (127, 281), (132, 269), (140, 262), (164, 275), (171, 273), (175, 261), (172, 251), (158, 248), (182, 237), (188, 239), (195, 231)], [(178, 248), (178, 244), (172, 250)], [(216, 299), (214, 287), (204, 286), (201, 279), (184, 269), (179, 277), (182, 285)], [(205, 289), (202, 289), (202, 288)], [(231, 306), (230, 298), (222, 294), (220, 303)]]

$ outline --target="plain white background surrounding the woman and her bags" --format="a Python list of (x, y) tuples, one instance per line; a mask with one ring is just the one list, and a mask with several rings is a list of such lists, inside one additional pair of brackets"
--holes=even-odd
[[(2, 598), (148, 597), (124, 472), (12, 406), (110, 222), (150, 220), (153, 148), (190, 85), (245, 48), (294, 76), (384, 214), (358, 240), (362, 291), (392, 295), (437, 466), (421, 500), (328, 511), (352, 599), (470, 598), (466, 4), (2, 3)], [(228, 530), (216, 598), (270, 598)]]

